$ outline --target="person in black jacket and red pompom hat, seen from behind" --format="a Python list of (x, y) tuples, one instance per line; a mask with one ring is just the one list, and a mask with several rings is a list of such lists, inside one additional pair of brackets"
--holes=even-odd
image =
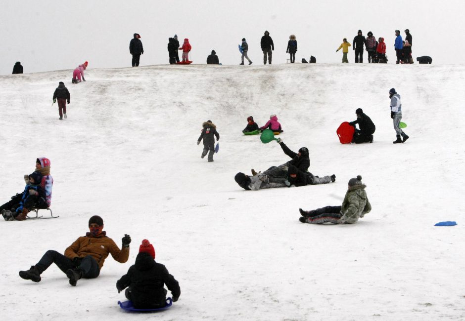
[(171, 291), (173, 302), (181, 295), (179, 282), (163, 264), (155, 262), (155, 249), (148, 240), (142, 240), (136, 263), (116, 282), (118, 293), (124, 290), (136, 309), (158, 309), (166, 305), (164, 284)]

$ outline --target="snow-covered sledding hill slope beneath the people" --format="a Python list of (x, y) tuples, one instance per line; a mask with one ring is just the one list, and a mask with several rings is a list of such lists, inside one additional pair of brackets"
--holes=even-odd
[[(0, 222), (2, 320), (463, 320), (465, 318), (464, 65), (312, 64), (149, 66), (0, 77), (0, 202), (24, 187), (37, 157), (51, 160), (59, 218)], [(51, 98), (71, 92), (68, 119)], [(393, 145), (388, 90), (402, 96), (410, 140)], [(363, 108), (373, 144), (335, 134)], [(334, 184), (244, 191), (238, 171), (287, 160), (279, 145), (243, 136), (277, 114), (283, 141), (310, 149), (310, 171)], [(201, 124), (221, 135), (215, 161), (200, 159)], [(340, 204), (363, 176), (372, 212), (355, 225), (310, 225), (298, 208)], [(48, 249), (63, 252), (103, 217), (126, 264), (105, 261), (76, 287), (52, 265), (42, 281), (19, 270)], [(455, 220), (455, 227), (434, 227)], [(116, 281), (142, 239), (180, 282), (161, 314), (128, 316)]]

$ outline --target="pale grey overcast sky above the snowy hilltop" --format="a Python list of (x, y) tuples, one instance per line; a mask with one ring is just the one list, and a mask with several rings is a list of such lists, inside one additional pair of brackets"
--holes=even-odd
[[(384, 37), (389, 63), (395, 58), (394, 30), (410, 29), (413, 57), (433, 63), (462, 63), (465, 49), (465, 1), (459, 0), (2, 0), (0, 74), (11, 74), (16, 61), (25, 73), (130, 67), (129, 41), (139, 33), (144, 46), (140, 65), (168, 64), (168, 38), (178, 35), (192, 45), (191, 60), (205, 63), (215, 49), (223, 64), (240, 63), (237, 45), (249, 44), (249, 57), (263, 64), (260, 38), (265, 30), (275, 43), (274, 63), (285, 63), (289, 35), (298, 41), (296, 62), (310, 55), (340, 62), (342, 39), (357, 30)], [(364, 59), (367, 60), (366, 53)], [(354, 53), (349, 52), (349, 62)], [(70, 75), (71, 78), (72, 75)]]

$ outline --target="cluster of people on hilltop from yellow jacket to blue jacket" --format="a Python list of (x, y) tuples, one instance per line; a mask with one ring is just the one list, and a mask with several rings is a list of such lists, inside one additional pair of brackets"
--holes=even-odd
[[(406, 39), (402, 40), (400, 31), (396, 30), (396, 40), (394, 42), (394, 49), (396, 50), (397, 64), (399, 63), (413, 63), (412, 59), (412, 35), (410, 30), (406, 29)], [(373, 33), (370, 31), (367, 34), (367, 38), (363, 36), (362, 30), (357, 32), (357, 36), (354, 37), (352, 41), (352, 49), (355, 51), (355, 63), (363, 63), (363, 52), (364, 46), (365, 50), (368, 52), (368, 63), (387, 63), (386, 57), (386, 44), (384, 38), (379, 37), (378, 40), (373, 36)], [(343, 39), (343, 42), (336, 50), (339, 51), (342, 48), (342, 62), (348, 63), (347, 54), (349, 52), (349, 47), (351, 44), (347, 41), (346, 38)]]

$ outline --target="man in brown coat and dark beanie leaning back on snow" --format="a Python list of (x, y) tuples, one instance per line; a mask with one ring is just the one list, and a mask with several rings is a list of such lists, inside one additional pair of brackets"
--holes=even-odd
[(89, 230), (86, 236), (79, 237), (68, 246), (65, 254), (48, 250), (40, 261), (27, 271), (19, 271), (19, 276), (25, 280), (41, 281), (41, 274), (52, 264), (66, 273), (69, 284), (76, 286), (79, 279), (94, 279), (100, 274), (103, 262), (111, 254), (115, 261), (125, 263), (129, 258), (129, 243), (131, 237), (127, 234), (122, 239), (121, 249), (106, 236), (103, 230), (103, 220), (94, 215), (89, 220)]

